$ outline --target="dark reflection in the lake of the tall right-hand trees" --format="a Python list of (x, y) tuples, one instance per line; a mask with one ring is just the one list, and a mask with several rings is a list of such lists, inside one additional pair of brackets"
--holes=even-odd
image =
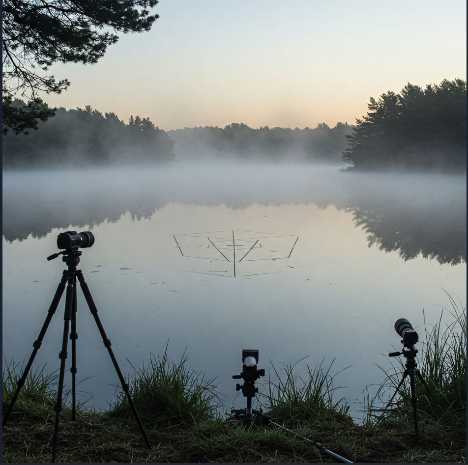
[[(391, 184), (391, 188), (389, 188)], [(457, 176), (390, 176), (349, 192), (343, 207), (367, 234), (369, 247), (422, 255), (440, 264), (467, 260), (466, 180)]]

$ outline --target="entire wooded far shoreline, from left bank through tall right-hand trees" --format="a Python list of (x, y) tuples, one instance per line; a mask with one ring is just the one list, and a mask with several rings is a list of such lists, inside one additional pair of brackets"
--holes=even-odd
[[(19, 99), (12, 109), (27, 109)], [(46, 104), (44, 104), (46, 106)], [(3, 167), (22, 169), (112, 164), (212, 162), (347, 164), (340, 171), (467, 169), (467, 83), (462, 79), (408, 83), (400, 93), (370, 98), (355, 125), (257, 129), (243, 123), (163, 131), (149, 118), (85, 109), (54, 109), (29, 134), (2, 137)], [(26, 110), (25, 110), (26, 111)]]

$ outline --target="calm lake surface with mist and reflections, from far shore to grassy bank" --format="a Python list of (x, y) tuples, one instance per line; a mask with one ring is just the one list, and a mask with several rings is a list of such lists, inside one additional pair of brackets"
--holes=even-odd
[[(169, 341), (170, 359), (187, 349), (188, 366), (217, 377), (226, 405), (242, 349), (254, 348), (267, 372), (304, 356), (298, 374), (323, 358), (335, 359), (332, 373), (352, 365), (337, 396), (358, 410), (364, 387), (383, 379), (375, 364), (390, 366), (385, 354), (400, 349), (394, 322), (421, 325), (424, 309), (435, 323), (449, 304), (440, 288), (466, 302), (465, 175), (287, 164), (8, 171), (7, 360), (32, 352), (64, 268), (46, 257), (71, 229), (95, 235), (79, 269), (122, 371)], [(63, 305), (34, 361), (51, 372)], [(78, 310), (77, 379), (92, 377), (79, 388), (106, 408), (118, 379), (81, 290)]]

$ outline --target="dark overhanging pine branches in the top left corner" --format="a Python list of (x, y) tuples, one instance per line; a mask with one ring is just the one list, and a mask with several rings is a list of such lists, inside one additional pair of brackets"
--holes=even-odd
[[(37, 129), (38, 121), (54, 116), (38, 92), (59, 94), (70, 85), (67, 79), (45, 76), (57, 62), (96, 63), (117, 35), (99, 32), (103, 27), (116, 32), (150, 30), (159, 15), (147, 7), (158, 0), (4, 0), (2, 5), (3, 45), (3, 134)], [(37, 72), (39, 68), (43, 72)], [(29, 102), (12, 105), (20, 92)], [(6, 117), (5, 117), (6, 115)]]

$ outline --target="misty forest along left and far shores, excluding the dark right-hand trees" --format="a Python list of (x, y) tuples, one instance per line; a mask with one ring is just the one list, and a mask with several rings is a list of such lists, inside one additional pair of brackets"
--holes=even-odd
[[(24, 103), (16, 99), (14, 105)], [(341, 163), (346, 136), (353, 127), (325, 123), (315, 129), (253, 129), (243, 123), (165, 132), (149, 118), (130, 116), (124, 123), (114, 113), (90, 106), (59, 108), (37, 131), (3, 136), (3, 166), (33, 167), (65, 164), (92, 166), (114, 163), (153, 164), (179, 160), (317, 161)]]

